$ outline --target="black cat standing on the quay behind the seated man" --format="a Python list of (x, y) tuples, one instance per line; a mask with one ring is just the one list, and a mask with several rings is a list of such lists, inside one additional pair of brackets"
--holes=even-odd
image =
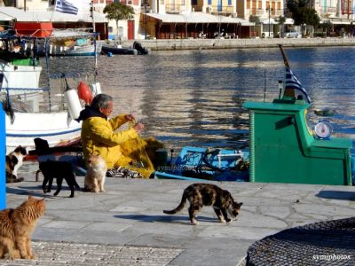
[[(75, 174), (73, 167), (68, 161), (56, 161), (56, 160), (47, 160), (39, 163), (39, 168), (44, 176), (43, 178), (43, 192), (51, 192), (51, 184), (53, 183), (53, 178), (57, 178), (57, 191), (54, 193), (54, 196), (57, 196), (61, 190), (61, 184), (63, 183), (63, 178), (66, 179), (67, 184), (70, 187), (70, 198), (74, 197), (74, 190), (80, 190), (79, 184), (76, 183)], [(45, 185), (48, 184), (46, 189)]]

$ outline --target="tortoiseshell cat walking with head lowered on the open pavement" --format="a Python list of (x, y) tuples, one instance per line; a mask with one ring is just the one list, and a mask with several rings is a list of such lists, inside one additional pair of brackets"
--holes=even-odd
[(230, 192), (221, 189), (215, 184), (191, 184), (185, 188), (180, 204), (173, 210), (164, 210), (164, 214), (175, 215), (185, 207), (186, 200), (190, 201), (188, 212), (190, 221), (193, 224), (198, 224), (195, 215), (203, 206), (212, 205), (219, 221), (221, 223), (229, 223), (231, 219), (228, 218), (227, 213), (232, 218), (236, 218), (243, 204), (242, 202), (234, 201)]

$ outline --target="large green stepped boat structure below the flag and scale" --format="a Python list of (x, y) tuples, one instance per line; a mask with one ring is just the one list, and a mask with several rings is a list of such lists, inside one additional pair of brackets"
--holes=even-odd
[(351, 184), (347, 138), (315, 139), (303, 101), (246, 102), (250, 116), (250, 182)]

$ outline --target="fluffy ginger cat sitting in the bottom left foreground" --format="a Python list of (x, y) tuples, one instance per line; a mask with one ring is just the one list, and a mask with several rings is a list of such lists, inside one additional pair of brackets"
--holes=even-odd
[(44, 199), (36, 200), (31, 196), (19, 207), (0, 211), (0, 258), (36, 258), (32, 254), (31, 235), (44, 211)]

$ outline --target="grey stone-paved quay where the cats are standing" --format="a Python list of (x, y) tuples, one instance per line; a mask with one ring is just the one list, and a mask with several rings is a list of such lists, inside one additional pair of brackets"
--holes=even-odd
[[(37, 164), (26, 162), (7, 184), (7, 207), (28, 195), (43, 197), (35, 182)], [(83, 186), (83, 176), (76, 177)], [(42, 179), (41, 179), (42, 181)], [(11, 265), (237, 265), (248, 246), (289, 227), (350, 217), (353, 187), (309, 184), (217, 183), (242, 201), (237, 221), (218, 223), (212, 207), (190, 224), (186, 208), (177, 207), (186, 181), (106, 178), (105, 193), (70, 192), (64, 182), (59, 196), (45, 195), (47, 210), (33, 234), (38, 261)], [(0, 261), (0, 263), (9, 262)]]

